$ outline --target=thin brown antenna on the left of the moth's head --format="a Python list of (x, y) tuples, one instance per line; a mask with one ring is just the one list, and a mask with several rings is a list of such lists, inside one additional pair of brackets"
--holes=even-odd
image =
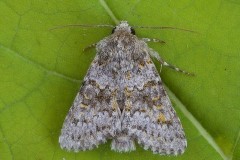
[(55, 29), (62, 29), (62, 28), (68, 28), (68, 27), (81, 27), (81, 28), (114, 28), (113, 25), (108, 24), (99, 24), (99, 25), (88, 25), (88, 24), (67, 24), (63, 26), (56, 26), (53, 28), (50, 28), (49, 30), (55, 30)]

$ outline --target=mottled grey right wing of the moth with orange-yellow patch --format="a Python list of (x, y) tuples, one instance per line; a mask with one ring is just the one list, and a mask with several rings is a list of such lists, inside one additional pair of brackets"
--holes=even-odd
[(136, 85), (128, 93), (122, 127), (144, 149), (162, 155), (182, 154), (187, 146), (185, 134), (150, 57), (146, 56), (138, 70), (141, 73), (132, 71)]

